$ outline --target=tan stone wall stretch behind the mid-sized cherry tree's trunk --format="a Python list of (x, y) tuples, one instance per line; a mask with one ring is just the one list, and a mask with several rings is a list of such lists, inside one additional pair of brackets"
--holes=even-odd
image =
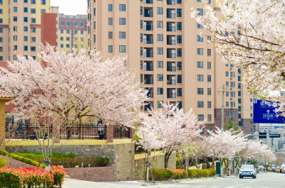
[[(134, 179), (142, 179), (142, 173), (145, 171), (147, 159), (146, 157), (139, 158), (135, 160), (135, 177)], [(149, 162), (151, 162), (152, 168), (165, 168), (165, 155), (160, 154), (155, 157), (149, 157)], [(168, 161), (168, 169), (176, 168), (176, 153), (170, 155)]]

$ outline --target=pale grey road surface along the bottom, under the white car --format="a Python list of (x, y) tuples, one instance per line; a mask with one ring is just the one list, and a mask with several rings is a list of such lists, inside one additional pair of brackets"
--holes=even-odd
[[(76, 179), (66, 179), (63, 188), (92, 188), (92, 187), (145, 187), (142, 182), (84, 182)], [(239, 177), (225, 177), (217, 179), (193, 179), (190, 181), (182, 181), (176, 184), (159, 184), (147, 186), (149, 188), (167, 188), (167, 187), (191, 187), (191, 188), (284, 188), (285, 175), (269, 172), (257, 174), (257, 179), (247, 178), (239, 179)]]

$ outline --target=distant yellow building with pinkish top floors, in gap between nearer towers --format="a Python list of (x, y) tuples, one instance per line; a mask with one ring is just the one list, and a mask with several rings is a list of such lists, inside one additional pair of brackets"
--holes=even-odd
[(59, 13), (58, 6), (51, 6), (51, 12), (56, 13), (56, 43), (58, 49), (77, 52), (88, 47), (87, 16), (64, 15)]

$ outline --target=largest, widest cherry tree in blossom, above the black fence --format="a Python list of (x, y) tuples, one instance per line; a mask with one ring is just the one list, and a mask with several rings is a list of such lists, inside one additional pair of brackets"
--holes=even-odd
[(83, 50), (66, 53), (51, 45), (41, 45), (38, 57), (41, 61), (18, 56), (8, 62), (9, 70), (0, 68), (1, 89), (16, 95), (11, 102), (19, 114), (37, 119), (48, 114), (71, 124), (90, 116), (133, 127), (146, 94), (126, 69), (125, 57), (101, 61), (95, 50), (86, 56)]

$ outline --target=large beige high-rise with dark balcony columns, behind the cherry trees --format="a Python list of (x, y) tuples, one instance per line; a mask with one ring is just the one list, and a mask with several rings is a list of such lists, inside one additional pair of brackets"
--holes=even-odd
[[(214, 6), (213, 1), (208, 3)], [(160, 102), (179, 102), (180, 108), (192, 108), (199, 120), (206, 120), (211, 130), (221, 125), (222, 92), (218, 91), (227, 85), (224, 122), (232, 118), (245, 132), (255, 130), (253, 96), (242, 85), (242, 72), (217, 57), (208, 43), (210, 31), (190, 17), (190, 6), (203, 15), (199, 0), (87, 2), (89, 50), (101, 51), (104, 59), (128, 55), (126, 66), (138, 72), (141, 87), (149, 91), (149, 105), (142, 110), (160, 109)]]

